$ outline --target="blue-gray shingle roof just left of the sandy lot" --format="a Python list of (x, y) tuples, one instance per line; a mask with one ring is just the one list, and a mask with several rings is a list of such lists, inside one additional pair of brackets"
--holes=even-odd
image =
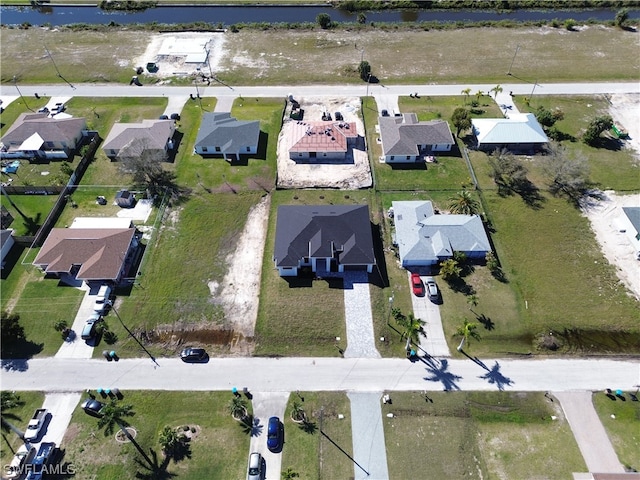
[(216, 153), (238, 153), (241, 148), (257, 146), (258, 120), (236, 120), (229, 112), (205, 113), (196, 138), (196, 147), (220, 147)]

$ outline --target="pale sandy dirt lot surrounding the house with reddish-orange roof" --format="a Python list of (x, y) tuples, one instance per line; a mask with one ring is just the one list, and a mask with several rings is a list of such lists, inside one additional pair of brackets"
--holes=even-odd
[[(289, 158), (294, 130), (299, 121), (285, 118), (278, 137), (278, 188), (338, 188), (356, 190), (372, 185), (371, 167), (364, 148), (364, 124), (360, 118), (358, 97), (308, 97), (295, 98), (304, 110), (302, 122), (322, 121), (322, 113), (329, 112), (332, 118), (340, 112), (344, 123), (355, 123), (360, 138), (347, 153), (348, 163), (296, 163)], [(288, 111), (289, 109), (287, 109)], [(333, 118), (333, 121), (336, 121)]]

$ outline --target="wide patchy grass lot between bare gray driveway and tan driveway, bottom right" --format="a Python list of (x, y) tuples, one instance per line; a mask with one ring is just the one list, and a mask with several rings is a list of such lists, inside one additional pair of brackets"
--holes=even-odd
[(542, 393), (428, 397), (391, 392), (393, 403), (382, 405), (390, 478), (571, 478), (586, 468), (561, 410)]

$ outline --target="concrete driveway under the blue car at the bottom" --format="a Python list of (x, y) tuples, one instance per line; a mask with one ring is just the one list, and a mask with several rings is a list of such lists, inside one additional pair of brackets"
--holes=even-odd
[[(256, 392), (252, 393), (252, 395), (254, 427), (251, 432), (251, 444), (247, 459), (249, 458), (249, 453), (259, 452), (267, 465), (265, 480), (280, 480), (282, 453), (272, 453), (267, 448), (267, 425), (270, 417), (279, 417), (280, 421), (285, 423), (284, 414), (289, 400), (289, 392)], [(284, 441), (284, 448), (287, 448), (286, 429)]]

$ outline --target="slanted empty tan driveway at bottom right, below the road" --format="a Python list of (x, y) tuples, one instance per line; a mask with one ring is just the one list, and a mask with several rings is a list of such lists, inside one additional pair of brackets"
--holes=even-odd
[(607, 432), (593, 407), (591, 392), (553, 392), (560, 400), (580, 453), (593, 473), (624, 473)]

